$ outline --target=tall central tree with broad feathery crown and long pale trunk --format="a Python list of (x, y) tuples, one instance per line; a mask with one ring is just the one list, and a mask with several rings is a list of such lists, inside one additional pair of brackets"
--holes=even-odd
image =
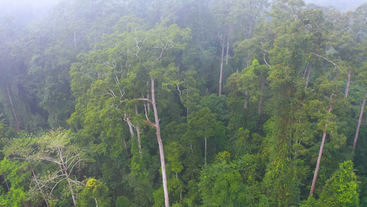
[[(98, 99), (107, 103), (106, 107), (112, 110), (129, 115), (129, 107), (132, 106), (132, 101), (135, 104), (136, 101), (147, 101), (148, 104), (151, 104), (154, 123), (149, 121), (147, 110), (145, 110), (145, 117), (147, 124), (156, 129), (165, 205), (169, 206), (165, 155), (160, 137), (160, 119), (156, 100), (158, 93), (156, 92), (158, 90), (156, 81), (160, 81), (162, 89), (165, 91), (170, 90), (169, 86), (176, 86), (177, 68), (172, 53), (174, 50), (185, 48), (185, 42), (191, 37), (190, 30), (188, 28), (180, 29), (177, 25), (168, 26), (168, 20), (162, 21), (150, 30), (143, 30), (145, 26), (139, 25), (142, 22), (136, 17), (125, 18), (120, 23), (128, 21), (129, 18), (138, 23), (129, 22), (126, 25), (127, 30), (122, 34), (117, 30), (110, 37), (106, 36), (102, 42), (103, 44), (99, 46), (107, 46), (107, 49), (103, 49), (106, 52), (95, 50), (90, 52), (90, 55), (80, 56), (80, 62), (74, 64), (72, 68), (72, 89), (77, 97), (85, 97), (82, 91), (88, 91), (92, 88), (83, 88), (83, 83), (78, 82), (78, 77), (92, 77), (91, 80), (87, 80), (88, 85), (101, 86), (100, 84), (103, 82), (108, 83), (103, 88), (96, 87), (94, 90), (101, 91), (101, 96)], [(118, 43), (111, 44), (111, 40), (118, 38), (120, 38)], [(103, 52), (103, 55), (99, 56), (100, 52)], [(96, 61), (92, 58), (93, 56), (97, 56), (99, 59)], [(89, 71), (88, 64), (95, 66), (93, 68), (94, 72)], [(106, 72), (105, 75), (102, 73), (103, 71)], [(96, 78), (95, 81), (94, 78)], [(150, 86), (147, 85), (148, 83)], [(125, 90), (127, 87), (128, 91)], [(146, 93), (148, 88), (150, 99), (141, 98), (141, 94)], [(114, 108), (111, 108), (111, 106)], [(78, 114), (76, 113), (76, 115)], [(129, 115), (129, 117), (132, 116)]]

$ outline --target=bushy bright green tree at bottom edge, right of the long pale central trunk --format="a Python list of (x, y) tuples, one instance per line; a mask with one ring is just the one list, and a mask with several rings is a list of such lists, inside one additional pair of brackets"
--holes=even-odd
[[(204, 166), (199, 192), (207, 206), (256, 206), (256, 164), (251, 155), (231, 161), (227, 151), (219, 152), (213, 164)], [(258, 195), (256, 195), (258, 194)], [(256, 199), (255, 199), (256, 197)]]

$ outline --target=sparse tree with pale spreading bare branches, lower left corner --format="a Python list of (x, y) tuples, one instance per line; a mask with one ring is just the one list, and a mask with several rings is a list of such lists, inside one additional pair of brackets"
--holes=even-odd
[(29, 161), (32, 169), (40, 162), (50, 164), (48, 170), (41, 170), (37, 176), (34, 170), (31, 170), (36, 181), (34, 191), (44, 190), (43, 192), (52, 195), (54, 190), (66, 181), (66, 188), (76, 206), (75, 188), (81, 186), (82, 182), (76, 179), (75, 171), (81, 168), (86, 159), (83, 150), (72, 146), (70, 139), (71, 132), (60, 128), (41, 137), (14, 140), (5, 152), (10, 159)]

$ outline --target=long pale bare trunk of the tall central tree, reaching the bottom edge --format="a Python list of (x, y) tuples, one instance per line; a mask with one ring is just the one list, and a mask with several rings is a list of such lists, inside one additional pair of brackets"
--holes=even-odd
[(158, 111), (157, 111), (157, 106), (156, 106), (156, 95), (154, 93), (154, 78), (151, 78), (151, 105), (153, 105), (154, 121), (156, 122), (155, 124), (156, 136), (157, 136), (157, 141), (158, 141), (158, 146), (159, 146), (160, 166), (162, 168), (162, 182), (163, 182), (163, 191), (165, 193), (165, 206), (169, 207), (165, 153), (163, 151), (162, 139), (160, 138), (160, 125), (159, 125)]

